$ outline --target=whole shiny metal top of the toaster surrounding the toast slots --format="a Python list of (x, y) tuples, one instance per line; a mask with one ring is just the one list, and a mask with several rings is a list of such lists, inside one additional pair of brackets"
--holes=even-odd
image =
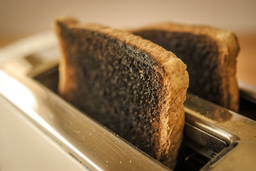
[[(58, 48), (52, 34), (42, 35), (0, 50), (1, 95), (92, 170), (168, 170), (52, 92)], [(186, 144), (210, 160), (202, 170), (256, 169), (255, 121), (193, 94), (184, 105)]]

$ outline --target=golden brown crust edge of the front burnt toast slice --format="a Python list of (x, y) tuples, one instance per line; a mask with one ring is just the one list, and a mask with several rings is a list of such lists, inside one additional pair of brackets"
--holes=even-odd
[[(63, 57), (60, 63), (60, 93), (68, 100), (70, 96), (70, 89), (76, 89), (72, 84), (72, 79), (76, 77), (74, 71), (76, 70), (68, 66), (68, 50), (61, 31), (67, 29), (79, 29), (83, 31), (94, 31), (100, 34), (111, 36), (125, 45), (135, 47), (141, 52), (146, 52), (159, 66), (161, 66), (161, 77), (163, 78), (163, 91), (166, 94), (163, 101), (159, 101), (161, 112), (159, 113), (159, 123), (155, 123), (159, 127), (158, 142), (155, 142), (156, 159), (157, 160), (173, 160), (177, 156), (180, 141), (182, 139), (182, 130), (184, 126), (184, 106), (183, 102), (186, 100), (186, 89), (188, 88), (188, 72), (186, 71), (186, 64), (182, 63), (172, 52), (152, 43), (148, 40), (143, 40), (140, 36), (111, 29), (95, 24), (79, 24), (76, 20), (61, 19), (56, 20), (56, 33), (60, 40), (61, 52)], [(153, 142), (152, 142), (153, 143)], [(167, 161), (167, 160), (166, 160)], [(168, 163), (166, 163), (168, 165)]]

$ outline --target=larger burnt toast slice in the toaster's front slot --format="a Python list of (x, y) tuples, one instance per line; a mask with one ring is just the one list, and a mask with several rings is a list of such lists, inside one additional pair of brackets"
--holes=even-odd
[(184, 127), (186, 64), (126, 31), (74, 19), (55, 26), (61, 96), (172, 167)]

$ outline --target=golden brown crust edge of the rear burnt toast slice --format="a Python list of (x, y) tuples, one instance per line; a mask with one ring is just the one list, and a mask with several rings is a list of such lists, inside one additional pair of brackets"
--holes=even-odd
[(221, 75), (222, 83), (220, 89), (222, 98), (220, 98), (219, 105), (238, 111), (239, 89), (236, 80), (236, 57), (239, 52), (239, 44), (234, 33), (209, 26), (189, 26), (171, 22), (142, 27), (132, 32), (140, 33), (140, 31), (146, 30), (193, 33), (195, 35), (205, 35), (214, 40), (218, 46), (218, 74)]

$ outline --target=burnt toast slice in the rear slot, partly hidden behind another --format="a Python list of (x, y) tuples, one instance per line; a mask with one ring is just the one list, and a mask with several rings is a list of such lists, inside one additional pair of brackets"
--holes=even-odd
[(132, 33), (172, 51), (188, 65), (190, 93), (237, 112), (239, 45), (235, 34), (213, 27), (170, 22), (143, 27)]

